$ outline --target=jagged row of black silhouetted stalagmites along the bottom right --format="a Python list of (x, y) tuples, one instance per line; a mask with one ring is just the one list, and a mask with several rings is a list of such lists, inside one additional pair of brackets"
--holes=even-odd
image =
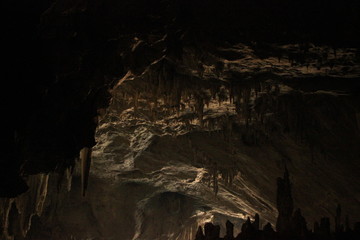
[[(278, 188), (284, 188), (283, 184), (279, 184), (279, 181), (282, 181), (282, 183), (285, 181), (287, 186), (291, 186), (291, 182), (289, 180), (289, 172), (287, 168), (285, 168), (284, 178), (278, 179)], [(289, 189), (289, 188), (288, 188)], [(279, 190), (279, 189), (278, 189)], [(283, 192), (282, 190), (278, 191), (278, 194), (282, 196)], [(278, 196), (279, 197), (279, 196)], [(288, 200), (291, 201), (291, 204), (293, 204), (293, 200), (291, 197), (291, 191), (288, 192)], [(285, 204), (284, 198), (282, 198), (281, 205), (278, 205), (279, 208), (283, 208), (283, 206), (287, 206)], [(284, 210), (284, 209), (282, 209)], [(279, 209), (279, 212), (281, 209)], [(276, 240), (276, 239), (317, 239), (317, 240), (326, 240), (326, 239), (336, 239), (336, 240), (345, 240), (345, 239), (351, 239), (355, 240), (359, 238), (359, 223), (356, 222), (354, 224), (353, 230), (348, 227), (347, 230), (344, 231), (343, 227), (339, 227), (340, 223), (340, 216), (341, 216), (341, 206), (338, 204), (336, 208), (336, 221), (334, 226), (334, 231), (330, 230), (330, 221), (329, 218), (323, 217), (321, 218), (320, 225), (318, 222), (314, 223), (314, 229), (313, 231), (309, 231), (307, 227), (307, 223), (305, 218), (301, 214), (301, 210), (297, 209), (292, 215), (290, 215), (290, 220), (286, 225), (282, 225), (281, 228), (279, 228), (276, 232), (273, 230), (270, 223), (267, 223), (262, 230), (259, 230), (259, 228), (256, 228), (259, 224), (259, 215), (256, 214), (254, 221), (251, 222), (250, 218), (248, 217), (247, 220), (242, 224), (241, 226), (241, 232), (237, 235), (235, 239), (238, 240)], [(279, 214), (279, 218), (284, 219), (284, 215)], [(214, 225), (211, 223), (206, 223), (205, 227), (208, 226), (209, 229), (213, 229)], [(201, 227), (199, 227), (199, 231), (201, 234), (197, 235), (195, 240), (199, 239), (214, 239), (214, 240), (221, 240), (221, 239), (234, 239), (232, 237), (233, 234), (233, 227), (234, 225), (230, 222), (226, 222), (227, 226), (227, 232), (226, 235), (223, 238), (217, 237), (214, 238), (214, 235), (212, 234), (212, 231), (205, 231), (205, 236), (202, 235)], [(230, 229), (230, 230), (229, 230)], [(198, 232), (199, 232), (198, 231)], [(230, 233), (229, 233), (230, 232)], [(216, 233), (218, 235), (218, 233)]]

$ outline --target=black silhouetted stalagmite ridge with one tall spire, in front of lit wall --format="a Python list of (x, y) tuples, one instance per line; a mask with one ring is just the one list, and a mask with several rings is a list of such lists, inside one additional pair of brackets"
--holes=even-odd
[[(349, 216), (345, 218), (344, 225), (341, 223), (341, 206), (338, 205), (335, 215), (335, 232), (330, 232), (330, 219), (323, 217), (320, 224), (315, 221), (313, 232), (307, 228), (307, 222), (298, 208), (293, 215), (293, 200), (291, 197), (291, 182), (288, 170), (285, 168), (283, 178), (278, 179), (278, 210), (279, 218), (277, 228), (274, 231), (271, 223), (267, 223), (260, 230), (260, 216), (256, 214), (254, 221), (248, 217), (241, 226), (241, 232), (234, 238), (234, 224), (226, 221), (226, 235), (220, 238), (220, 227), (212, 223), (205, 224), (205, 236), (202, 228), (199, 227), (195, 240), (357, 240), (360, 239), (360, 222), (354, 224), (354, 230), (349, 225)], [(286, 220), (286, 221), (285, 221)]]

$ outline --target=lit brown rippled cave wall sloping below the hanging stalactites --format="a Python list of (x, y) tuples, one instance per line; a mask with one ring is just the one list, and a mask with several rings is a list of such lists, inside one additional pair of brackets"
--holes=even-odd
[[(291, 104), (288, 99), (299, 99), (296, 94), (283, 91), (279, 98)], [(334, 93), (306, 94), (318, 101), (340, 97)], [(128, 102), (128, 98), (123, 101)], [(250, 123), (246, 127), (245, 121), (233, 119), (236, 109), (226, 101), (220, 106), (217, 102), (205, 105), (202, 127), (196, 113), (188, 120), (188, 106), (179, 113), (159, 111), (155, 121), (148, 117), (151, 111), (144, 107), (147, 103), (141, 96), (136, 111), (131, 106), (135, 103), (128, 107), (120, 103), (112, 102), (97, 129), (86, 197), (81, 197), (79, 173), (75, 171), (69, 196), (51, 200), (58, 201), (58, 207), (55, 210), (48, 205), (49, 211), (53, 210), (40, 218), (41, 224), (29, 237), (41, 236), (47, 227), (58, 239), (194, 239), (197, 227), (207, 221), (219, 224), (225, 233), (227, 219), (235, 223), (236, 236), (246, 216), (255, 213), (262, 216), (260, 228), (266, 222), (274, 226), (276, 178), (282, 175), (284, 162), (291, 171), (294, 205), (303, 209), (310, 223), (323, 215), (332, 216), (337, 202), (348, 202), (347, 211), (353, 213), (352, 219), (358, 218), (357, 200), (353, 199), (359, 191), (353, 172), (358, 165), (351, 161), (354, 152), (346, 155), (341, 148), (333, 152), (348, 158), (347, 164), (324, 156), (321, 150), (304, 144), (307, 138), (301, 140), (301, 131), (292, 132), (290, 124), (288, 130), (280, 131), (282, 122), (272, 123), (270, 126), (278, 128), (270, 128), (268, 133), (256, 132)], [(308, 109), (307, 114), (314, 113), (324, 125), (333, 121), (316, 108)], [(294, 117), (291, 113), (286, 116)], [(325, 129), (311, 136), (315, 143), (328, 136)], [(267, 138), (262, 137), (265, 134)], [(321, 146), (333, 141), (328, 138)], [(329, 177), (335, 172), (336, 177)], [(344, 172), (346, 177), (342, 177)]]

